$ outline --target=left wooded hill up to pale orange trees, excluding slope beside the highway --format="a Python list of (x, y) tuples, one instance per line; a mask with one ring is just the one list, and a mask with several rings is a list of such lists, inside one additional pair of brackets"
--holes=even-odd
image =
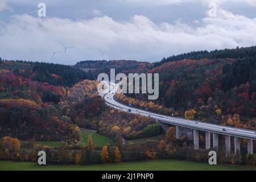
[[(3, 61), (0, 63), (0, 137), (62, 140), (74, 137), (65, 108), (90, 97), (96, 82), (65, 65)], [(74, 85), (75, 84), (75, 85)], [(67, 86), (71, 85), (71, 88)], [(65, 112), (64, 112), (65, 111)], [(64, 112), (64, 113), (63, 113)]]

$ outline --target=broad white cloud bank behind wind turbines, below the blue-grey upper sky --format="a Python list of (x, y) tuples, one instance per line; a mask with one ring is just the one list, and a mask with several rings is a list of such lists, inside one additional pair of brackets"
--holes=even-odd
[[(219, 10), (217, 18), (204, 18), (191, 24), (177, 21), (156, 24), (135, 15), (128, 22), (109, 16), (88, 20), (12, 16), (0, 24), (0, 56), (5, 59), (51, 61), (51, 46), (68, 49), (68, 64), (79, 60), (135, 59), (160, 60), (164, 56), (202, 49), (235, 48), (256, 45), (256, 19)], [(107, 52), (102, 56), (101, 51)], [(65, 63), (61, 54), (59, 63)]]

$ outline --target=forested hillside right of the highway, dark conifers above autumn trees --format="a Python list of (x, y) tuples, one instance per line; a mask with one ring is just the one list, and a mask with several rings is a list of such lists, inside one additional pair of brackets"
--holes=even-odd
[[(229, 53), (238, 58), (229, 58), (232, 57)], [(193, 54), (184, 54), (184, 57), (190, 55)], [(213, 58), (173, 59), (175, 61), (168, 61), (148, 71), (159, 73), (159, 98), (156, 104), (172, 108), (182, 113), (183, 117), (255, 129), (255, 47), (195, 53), (196, 56)], [(145, 95), (127, 96), (147, 101)]]

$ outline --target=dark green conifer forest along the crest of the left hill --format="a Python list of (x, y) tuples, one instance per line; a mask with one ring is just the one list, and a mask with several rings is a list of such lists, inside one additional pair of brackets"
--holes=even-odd
[(90, 72), (69, 65), (39, 63), (32, 61), (7, 61), (0, 58), (0, 69), (13, 71), (15, 74), (30, 77), (34, 81), (47, 82), (55, 86), (68, 86), (76, 84), (81, 80), (92, 80)]

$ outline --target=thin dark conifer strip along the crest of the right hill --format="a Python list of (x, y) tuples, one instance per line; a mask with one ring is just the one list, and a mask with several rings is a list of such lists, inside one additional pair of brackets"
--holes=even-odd
[(255, 56), (256, 55), (256, 46), (253, 47), (246, 47), (246, 48), (239, 48), (236, 49), (223, 49), (223, 50), (215, 50), (215, 51), (193, 51), (189, 53), (181, 53), (180, 55), (173, 55), (162, 59), (159, 62), (154, 64), (154, 67), (158, 67), (164, 63), (171, 62), (171, 61), (179, 61), (183, 59), (193, 59), (193, 60), (200, 60), (200, 59), (213, 59), (213, 58), (232, 58), (237, 59), (238, 57), (246, 57), (246, 56)]

